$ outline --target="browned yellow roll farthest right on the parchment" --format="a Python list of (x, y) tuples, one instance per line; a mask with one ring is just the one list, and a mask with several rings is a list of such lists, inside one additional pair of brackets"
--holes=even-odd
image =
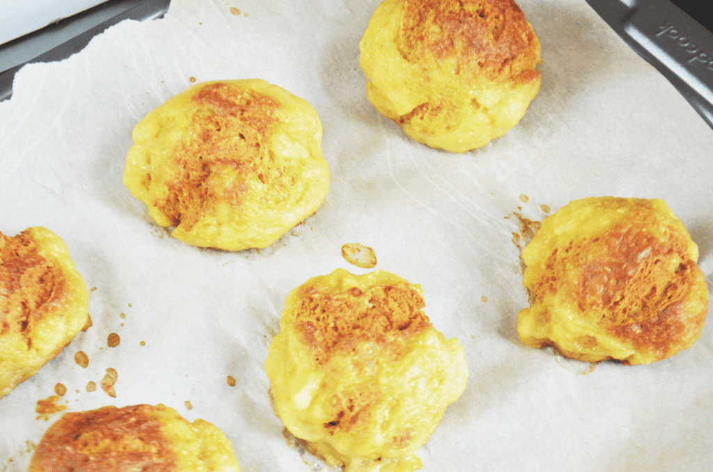
[(590, 197), (546, 217), (523, 250), (530, 347), (649, 364), (691, 347), (708, 312), (698, 247), (663, 200)]

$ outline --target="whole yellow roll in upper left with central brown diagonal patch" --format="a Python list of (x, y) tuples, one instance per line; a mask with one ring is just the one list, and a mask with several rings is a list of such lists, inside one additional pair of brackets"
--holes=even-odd
[(148, 113), (133, 142), (124, 185), (190, 245), (267, 247), (329, 188), (317, 111), (260, 79), (191, 86)]

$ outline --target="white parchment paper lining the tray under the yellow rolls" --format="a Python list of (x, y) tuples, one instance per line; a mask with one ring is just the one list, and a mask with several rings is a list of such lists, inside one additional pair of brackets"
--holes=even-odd
[[(292, 288), (337, 267), (368, 271), (342, 259), (345, 242), (422, 284), (434, 326), (465, 347), (468, 386), (421, 448), (424, 471), (713, 462), (710, 323), (691, 349), (648, 366), (590, 372), (525, 347), (515, 333), (527, 306), (523, 241), (513, 235), (515, 213), (542, 220), (581, 197), (661, 197), (698, 243), (710, 287), (713, 130), (585, 2), (523, 0), (544, 59), (525, 117), (485, 148), (428, 148), (366, 100), (358, 43), (378, 3), (173, 0), (164, 19), (124, 21), (65, 61), (19, 71), (0, 103), (0, 231), (40, 225), (63, 238), (91, 289), (93, 326), (0, 399), (0, 471), (26, 470), (60, 416), (36, 419), (36, 402), (58, 383), (68, 411), (163, 403), (211, 421), (245, 472), (320, 470), (284, 438), (262, 364)], [(264, 78), (322, 119), (329, 193), (271, 247), (185, 245), (121, 183), (133, 126), (191, 77)], [(99, 386), (108, 368), (116, 398)]]

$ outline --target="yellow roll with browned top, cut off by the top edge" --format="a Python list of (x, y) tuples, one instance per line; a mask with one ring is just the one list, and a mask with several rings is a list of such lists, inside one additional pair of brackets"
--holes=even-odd
[(540, 42), (513, 0), (386, 0), (359, 48), (371, 104), (432, 148), (486, 145), (540, 90)]

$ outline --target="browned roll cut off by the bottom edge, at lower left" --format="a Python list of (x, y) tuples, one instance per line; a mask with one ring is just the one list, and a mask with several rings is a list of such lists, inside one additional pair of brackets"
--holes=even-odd
[(29, 472), (238, 472), (225, 435), (162, 404), (66, 413), (44, 433)]

